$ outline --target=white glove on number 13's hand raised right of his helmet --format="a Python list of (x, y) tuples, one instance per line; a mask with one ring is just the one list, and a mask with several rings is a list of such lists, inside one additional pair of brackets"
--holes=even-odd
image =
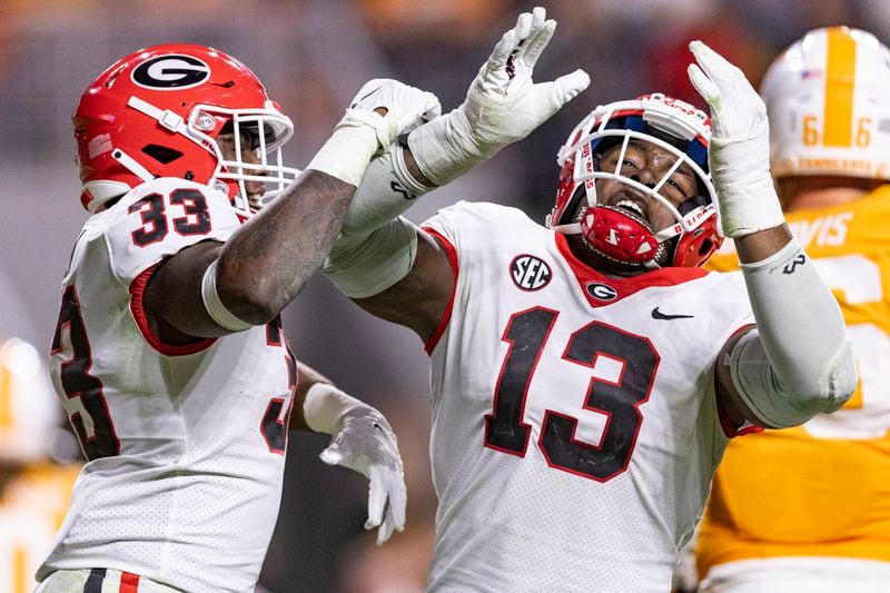
[(699, 65), (689, 78), (711, 107), (708, 149), (721, 226), (726, 237), (744, 237), (784, 223), (770, 177), (770, 130), (763, 100), (741, 70), (702, 43), (689, 46)]

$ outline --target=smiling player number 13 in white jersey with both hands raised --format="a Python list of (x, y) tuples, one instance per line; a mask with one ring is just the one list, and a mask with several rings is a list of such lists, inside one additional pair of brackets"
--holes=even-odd
[[(583, 89), (580, 71), (532, 81), (554, 27), (522, 16), (465, 102), (392, 152), (396, 179), (443, 185)], [(546, 226), (485, 202), (423, 228), (392, 218), (396, 196), (350, 207), (326, 273), (431, 356), (432, 591), (666, 591), (730, 438), (854, 389), (838, 303), (772, 187), (763, 103), (691, 49), (711, 120), (657, 93), (597, 108), (560, 151)], [(700, 267), (720, 228), (741, 275)]]

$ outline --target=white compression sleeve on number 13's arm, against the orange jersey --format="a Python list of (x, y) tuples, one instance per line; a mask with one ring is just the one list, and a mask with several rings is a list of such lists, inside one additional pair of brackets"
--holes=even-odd
[(770, 427), (795, 426), (842, 406), (856, 388), (840, 307), (795, 239), (742, 264), (758, 332), (730, 353), (733, 383)]

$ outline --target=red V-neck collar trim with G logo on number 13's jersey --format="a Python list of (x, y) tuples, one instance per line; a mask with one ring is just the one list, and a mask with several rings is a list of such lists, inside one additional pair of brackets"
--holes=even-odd
[[(562, 233), (554, 233), (554, 235), (556, 249), (568, 264), (568, 267), (572, 268), (575, 279), (581, 286), (581, 291), (584, 293), (587, 303), (590, 303), (592, 307), (602, 307), (617, 303), (622, 298), (651, 286), (675, 286), (708, 276), (708, 270), (703, 268), (666, 267), (646, 271), (630, 278), (613, 278), (595, 270), (578, 259), (568, 247), (568, 240), (565, 238), (565, 235)], [(594, 298), (587, 290), (587, 286), (591, 284), (606, 285), (613, 288), (616, 294), (607, 300)]]

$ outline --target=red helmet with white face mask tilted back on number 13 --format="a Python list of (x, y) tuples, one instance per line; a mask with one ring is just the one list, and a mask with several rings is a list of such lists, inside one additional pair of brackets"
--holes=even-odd
[[(547, 226), (564, 234), (582, 234), (602, 255), (623, 264), (659, 267), (664, 249), (669, 266), (702, 266), (720, 247), (719, 213), (708, 172), (711, 123), (700, 109), (661, 93), (600, 106), (578, 123), (560, 149), (560, 187)], [(652, 187), (622, 175), (623, 154), (631, 139), (652, 142), (676, 156), (676, 161)], [(600, 157), (620, 145), (614, 170), (600, 170)], [(681, 165), (695, 174), (701, 195), (674, 207), (660, 189)], [(649, 225), (623, 208), (599, 205), (596, 179), (616, 179), (664, 205), (676, 224), (664, 229)], [(586, 204), (581, 206), (581, 200)]]

